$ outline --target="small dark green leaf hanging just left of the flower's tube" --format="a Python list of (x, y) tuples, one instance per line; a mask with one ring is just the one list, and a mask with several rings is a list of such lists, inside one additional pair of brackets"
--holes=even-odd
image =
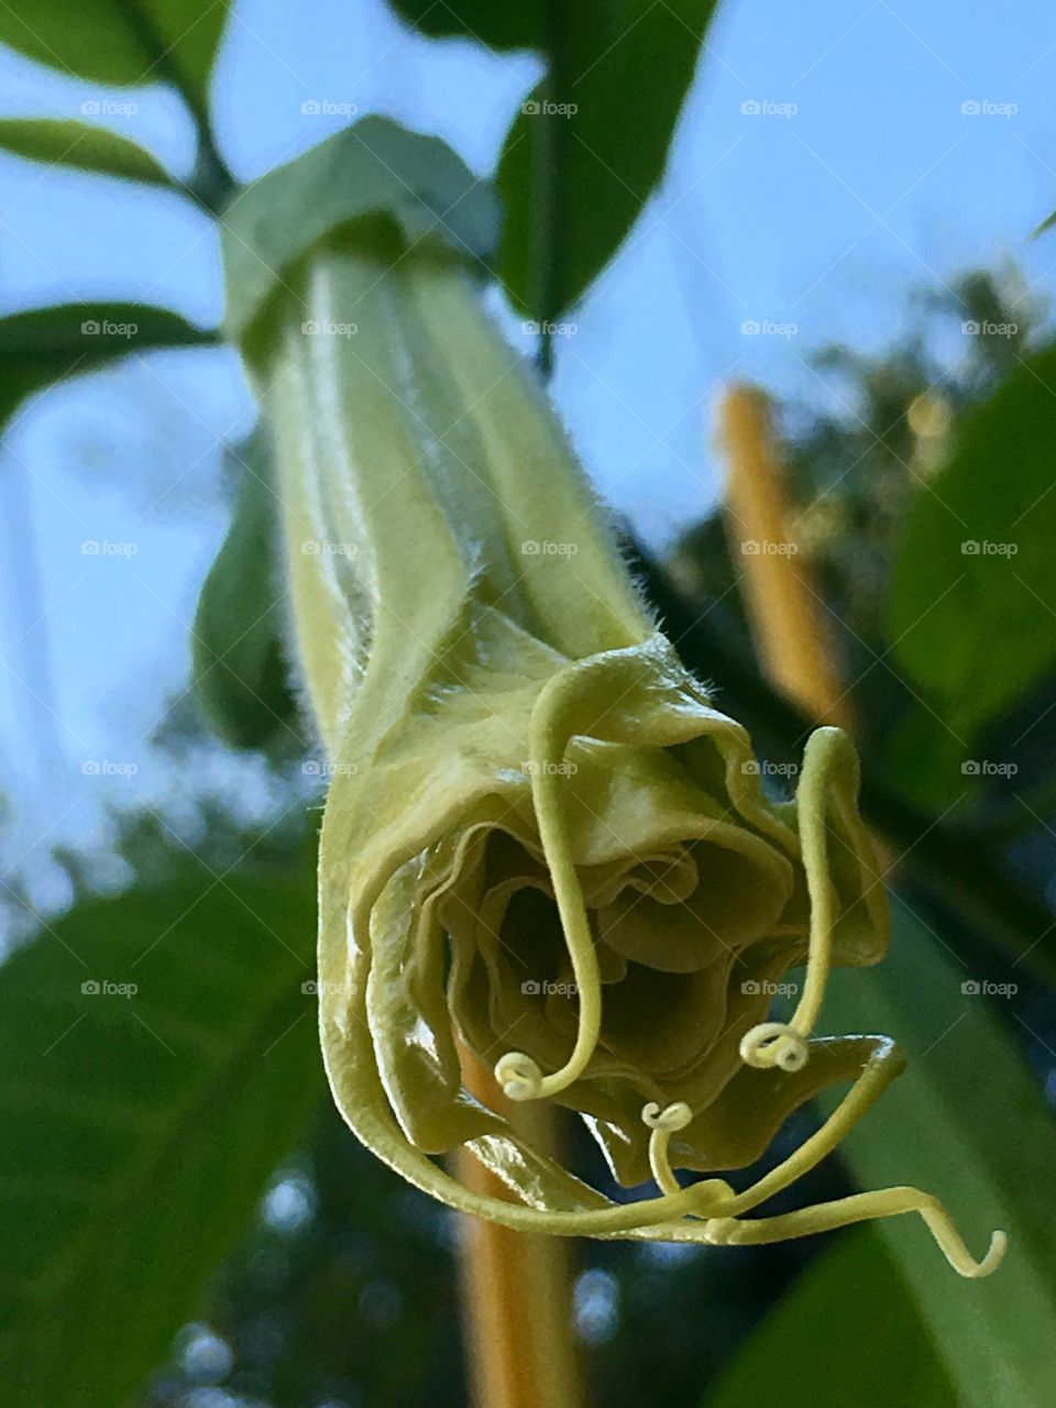
[(194, 617), (194, 689), (210, 724), (235, 748), (273, 738), (296, 745), (297, 705), (282, 650), (286, 590), (276, 572), (275, 493), (268, 459), (245, 448), (242, 480), (224, 546)]

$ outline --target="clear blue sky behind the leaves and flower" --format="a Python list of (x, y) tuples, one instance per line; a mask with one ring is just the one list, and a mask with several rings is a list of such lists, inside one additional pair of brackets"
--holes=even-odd
[[(1041, 0), (1014, 13), (980, 0), (725, 4), (667, 179), (559, 345), (560, 408), (650, 541), (714, 503), (724, 380), (834, 404), (810, 352), (881, 351), (907, 327), (914, 289), (1011, 258), (1033, 293), (1052, 293), (1056, 235), (1028, 237), (1056, 207), (1055, 70), (1056, 13)], [(529, 55), (407, 34), (380, 0), (245, 0), (217, 68), (215, 125), (244, 179), (344, 125), (304, 114), (311, 100), (438, 132), (486, 173), (536, 73)], [(100, 97), (10, 54), (0, 92), (3, 115), (79, 117)], [(111, 125), (186, 175), (179, 101), (110, 96), (137, 107)], [(86, 296), (215, 322), (210, 224), (179, 197), (0, 158), (0, 311)], [(180, 352), (42, 397), (7, 438), (0, 510), (21, 566), (0, 618), (0, 791), (20, 850), (87, 838), (107, 796), (179, 801), (144, 739), (183, 686), (187, 624), (222, 536), (218, 441), (251, 421), (231, 355)], [(89, 538), (135, 553), (86, 558)], [(86, 776), (86, 760), (138, 772)]]

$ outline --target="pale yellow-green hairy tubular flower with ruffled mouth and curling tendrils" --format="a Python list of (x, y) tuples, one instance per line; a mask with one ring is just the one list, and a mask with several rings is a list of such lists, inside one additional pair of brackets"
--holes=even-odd
[[(284, 283), (251, 360), (331, 776), (320, 1018), (348, 1124), (420, 1188), (515, 1228), (759, 1242), (915, 1209), (963, 1274), (988, 1271), (1000, 1239), (974, 1263), (911, 1188), (743, 1218), (901, 1069), (887, 1038), (814, 1035), (829, 966), (887, 943), (846, 736), (818, 729), (796, 798), (767, 797), (465, 260), (376, 220)], [(614, 1202), (535, 1149), (469, 1094), (463, 1052), (507, 1100), (582, 1114), (615, 1178), (656, 1195)], [(680, 1187), (674, 1169), (752, 1163), (838, 1081), (838, 1111), (746, 1191)], [(445, 1171), (460, 1145), (508, 1198)]]

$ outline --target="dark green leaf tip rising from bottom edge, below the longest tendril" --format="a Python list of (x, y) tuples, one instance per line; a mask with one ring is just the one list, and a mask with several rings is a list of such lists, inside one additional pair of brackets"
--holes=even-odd
[(870, 1226), (839, 1236), (722, 1370), (704, 1408), (957, 1408), (903, 1274)]

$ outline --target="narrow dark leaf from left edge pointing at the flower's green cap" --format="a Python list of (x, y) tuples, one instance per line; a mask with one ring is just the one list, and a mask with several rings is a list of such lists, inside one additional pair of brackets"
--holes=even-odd
[(62, 303), (0, 318), (0, 429), (21, 401), (54, 382), (159, 346), (215, 342), (166, 308), (142, 303)]

